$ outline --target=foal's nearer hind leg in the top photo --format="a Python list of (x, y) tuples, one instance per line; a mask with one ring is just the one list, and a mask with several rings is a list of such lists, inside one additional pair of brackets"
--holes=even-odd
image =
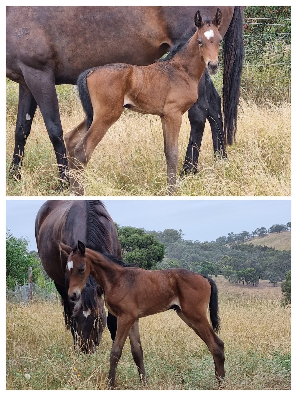
[[(110, 103), (110, 106), (111, 110), (106, 106), (93, 109), (93, 122), (88, 131), (84, 133), (82, 139), (74, 148), (74, 169), (80, 171), (84, 169), (84, 166), (88, 164), (95, 147), (101, 141), (112, 124), (120, 118), (120, 115), (123, 112), (123, 107), (122, 104), (120, 104), (120, 101), (116, 104)], [(70, 185), (70, 190), (76, 195), (84, 194), (84, 188), (77, 180), (74, 181), (72, 186)]]

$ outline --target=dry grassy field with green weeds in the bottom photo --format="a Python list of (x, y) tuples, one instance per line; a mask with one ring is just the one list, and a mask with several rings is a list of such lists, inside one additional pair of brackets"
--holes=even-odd
[[(225, 342), (227, 390), (290, 388), (290, 310), (280, 287), (229, 285), (217, 278)], [(110, 335), (95, 355), (77, 356), (58, 303), (7, 304), (7, 389), (104, 389)], [(142, 318), (148, 390), (216, 389), (206, 345), (173, 311)], [(30, 374), (30, 380), (25, 374)], [(142, 389), (126, 342), (118, 365), (119, 389)]]

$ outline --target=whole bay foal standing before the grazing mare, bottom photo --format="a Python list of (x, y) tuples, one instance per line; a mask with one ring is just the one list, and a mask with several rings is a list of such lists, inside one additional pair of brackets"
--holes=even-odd
[[(67, 266), (69, 298), (80, 297), (91, 274), (103, 289), (107, 309), (118, 318), (116, 338), (110, 350), (110, 388), (114, 387), (116, 367), (128, 336), (134, 362), (145, 385), (147, 375), (138, 320), (171, 308), (208, 346), (215, 363), (215, 376), (221, 385), (225, 378), (224, 343), (216, 334), (220, 328), (218, 295), (211, 278), (184, 268), (148, 271), (129, 267), (117, 258), (86, 248), (80, 241), (75, 249), (60, 245), (70, 263)], [(208, 307), (211, 326), (207, 317)]]

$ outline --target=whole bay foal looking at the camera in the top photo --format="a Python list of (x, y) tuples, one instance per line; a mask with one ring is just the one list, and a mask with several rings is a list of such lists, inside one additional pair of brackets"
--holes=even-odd
[[(197, 101), (197, 84), (205, 67), (209, 74), (219, 69), (220, 9), (213, 19), (203, 19), (197, 11), (194, 22), (196, 31), (171, 59), (148, 66), (111, 63), (80, 74), (77, 85), (87, 119), (65, 135), (70, 169), (83, 169), (125, 107), (160, 116), (168, 193), (175, 192), (183, 114)], [(71, 175), (70, 188), (76, 195), (84, 192)]]

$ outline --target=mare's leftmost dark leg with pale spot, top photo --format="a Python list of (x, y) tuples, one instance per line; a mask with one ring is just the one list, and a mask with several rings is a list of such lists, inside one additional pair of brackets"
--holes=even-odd
[(25, 84), (19, 84), (19, 104), (17, 110), (17, 122), (15, 125), (15, 147), (10, 171), (16, 173), (18, 179), (21, 175), (19, 168), (23, 165), (23, 156), (31, 125), (36, 111), (37, 103), (29, 88)]

